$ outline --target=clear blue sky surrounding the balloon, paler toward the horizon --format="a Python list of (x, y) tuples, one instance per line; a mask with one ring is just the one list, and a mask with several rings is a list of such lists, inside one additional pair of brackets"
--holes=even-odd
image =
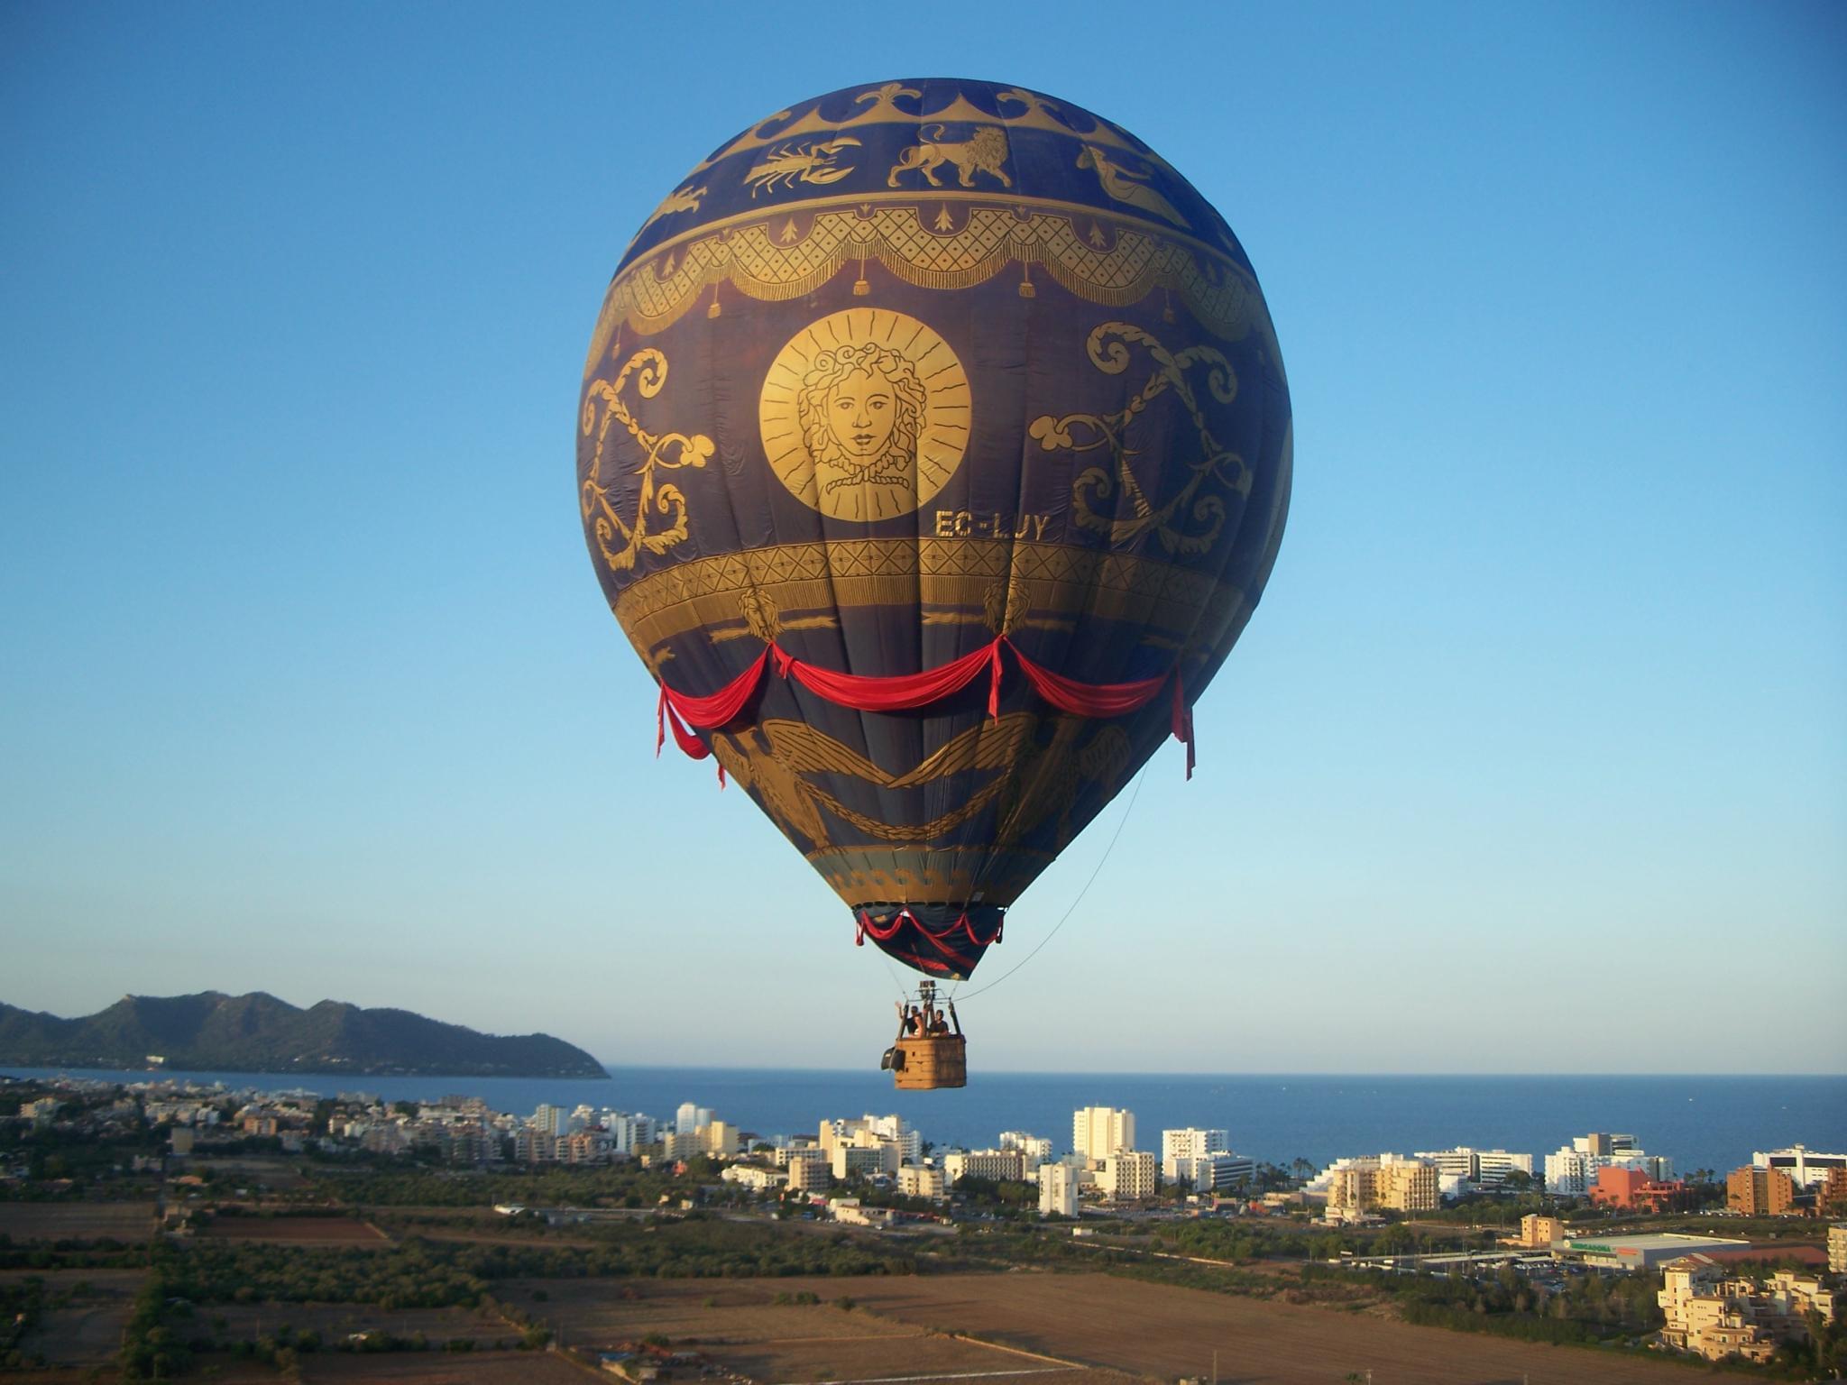
[(1843, 1071), (1843, 57), (1712, 0), (0, 9), (0, 999), (875, 1060), (846, 910), (652, 759), (573, 425), (689, 166), (948, 70), (1186, 172), (1297, 419), (1201, 774), (977, 1071)]

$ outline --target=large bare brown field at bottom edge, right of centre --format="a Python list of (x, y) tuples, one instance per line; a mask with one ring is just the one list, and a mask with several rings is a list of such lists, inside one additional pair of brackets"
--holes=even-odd
[[(842, 1280), (778, 1280), (785, 1293)], [(1219, 1354), (1225, 1385), (1651, 1385), (1684, 1381), (1672, 1361), (1516, 1343), (1372, 1315), (1293, 1307), (1105, 1274), (944, 1274), (853, 1280), (872, 1313), (1136, 1376), (1201, 1376)], [(1032, 1383), (1025, 1383), (1032, 1385)]]

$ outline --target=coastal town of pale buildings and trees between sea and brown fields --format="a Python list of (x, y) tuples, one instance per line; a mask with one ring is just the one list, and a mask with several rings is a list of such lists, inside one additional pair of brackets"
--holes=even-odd
[[(1827, 1219), (1847, 1217), (1847, 1154), (1801, 1145), (1686, 1174), (1618, 1132), (1570, 1138), (1542, 1158), (1455, 1147), (1317, 1169), (1236, 1152), (1223, 1128), (1145, 1138), (1156, 1132), (1138, 1130), (1134, 1112), (1108, 1106), (1073, 1112), (1069, 1141), (1003, 1130), (992, 1147), (944, 1149), (898, 1115), (754, 1132), (693, 1101), (663, 1117), (587, 1104), (519, 1115), (469, 1095), (384, 1102), (179, 1077), (6, 1078), (0, 1117), (0, 1252), (15, 1267), (55, 1261), (39, 1248), (46, 1239), (83, 1263), (122, 1254), (133, 1235), (76, 1230), (100, 1208), (120, 1228), (135, 1226), (124, 1208), (140, 1208), (146, 1234), (172, 1246), (288, 1224), (268, 1243), (277, 1254), (342, 1245), (334, 1228), (360, 1222), (332, 1213), (360, 1206), (371, 1208), (360, 1245), (419, 1230), (441, 1241), (464, 1222), (471, 1235), (526, 1245), (722, 1219), (850, 1234), (837, 1248), (859, 1256), (851, 1272), (916, 1271), (931, 1256), (966, 1265), (973, 1254), (1156, 1278), (1184, 1271), (1178, 1282), (1193, 1283), (1213, 1267), (1236, 1280), (1237, 1267), (1282, 1259), (1322, 1291), (1409, 1295), (1400, 1309), (1413, 1322), (1457, 1326), (1448, 1315), (1459, 1304), (1489, 1317), (1492, 1300), (1505, 1302), (1509, 1330), (1529, 1322), (1535, 1339), (1603, 1341), (1572, 1317), (1594, 1296), (1600, 1317), (1614, 1313), (1625, 1339), (1651, 1352), (1775, 1368), (1832, 1361), (1841, 1346), (1847, 1221)], [(79, 1221), (61, 1224), (61, 1208)], [(685, 1269), (702, 1272), (691, 1259)], [(35, 1359), (20, 1322), (6, 1354), (15, 1365)], [(525, 1341), (532, 1324), (517, 1326)], [(225, 1344), (198, 1343), (203, 1354)], [(621, 1355), (621, 1343), (610, 1346)]]

